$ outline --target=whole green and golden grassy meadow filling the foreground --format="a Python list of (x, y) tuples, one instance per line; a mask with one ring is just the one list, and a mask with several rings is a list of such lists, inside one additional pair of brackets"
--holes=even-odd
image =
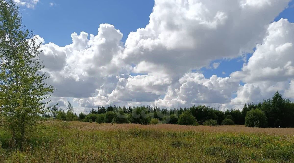
[(22, 152), (0, 140), (0, 162), (294, 162), (293, 128), (46, 121)]

